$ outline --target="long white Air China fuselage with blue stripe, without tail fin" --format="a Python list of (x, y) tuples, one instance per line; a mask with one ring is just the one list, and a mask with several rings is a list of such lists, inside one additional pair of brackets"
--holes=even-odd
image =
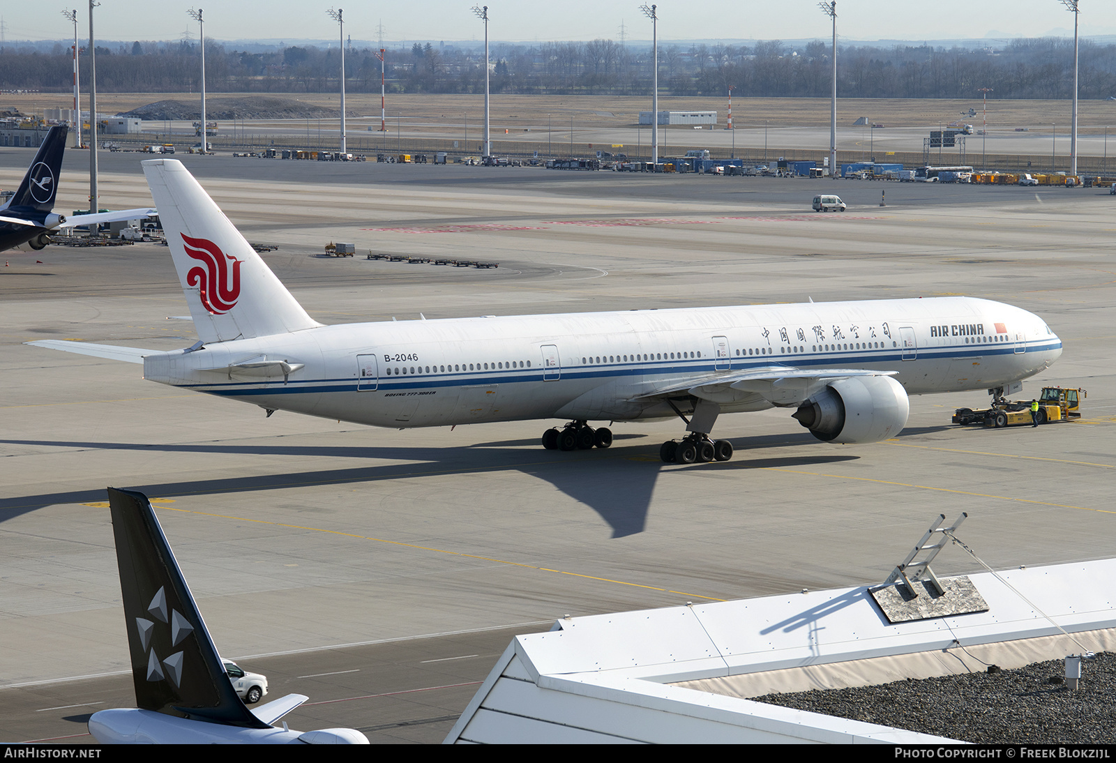
[[(324, 326), (150, 355), (144, 375), (269, 409), (416, 427), (671, 416), (643, 396), (749, 369), (893, 371), (911, 395), (985, 389), (1060, 354), (1033, 313), (945, 297)], [(730, 393), (715, 400), (723, 412), (798, 403)]]

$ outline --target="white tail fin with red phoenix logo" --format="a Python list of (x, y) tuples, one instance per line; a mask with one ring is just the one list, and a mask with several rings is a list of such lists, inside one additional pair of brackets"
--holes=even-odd
[(321, 326), (276, 278), (177, 160), (143, 162), (198, 338), (204, 342)]

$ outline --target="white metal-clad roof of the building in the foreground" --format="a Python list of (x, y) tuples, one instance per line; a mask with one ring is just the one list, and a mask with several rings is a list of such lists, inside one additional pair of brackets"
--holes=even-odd
[(915, 581), (913, 599), (859, 586), (566, 618), (512, 640), (445, 742), (949, 743), (749, 697), (1112, 650), (1096, 581), (1114, 573), (1105, 559), (942, 579), (937, 596)]

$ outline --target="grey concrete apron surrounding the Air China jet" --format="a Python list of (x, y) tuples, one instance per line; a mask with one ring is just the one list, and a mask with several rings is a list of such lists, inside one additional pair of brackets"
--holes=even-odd
[[(103, 205), (148, 203), (140, 158), (103, 156)], [(164, 248), (4, 252), (0, 740), (87, 742), (88, 713), (133, 702), (105, 485), (157, 499), (222, 654), (269, 674), (271, 697), (321, 703), (291, 727), (374, 741), (440, 740), (513, 632), (881, 581), (939, 513), (969, 512), (962, 540), (993, 567), (1112, 556), (1116, 225), (1099, 190), (184, 158), (250, 241), (280, 247), (266, 261), (323, 322), (965, 293), (1045, 317), (1065, 352), (1023, 394), (1081, 386), (1085, 413), (961, 429), (953, 408), (983, 392), (915, 397), (901, 436), (844, 447), (786, 411), (740, 414), (715, 429), (733, 460), (694, 466), (658, 462), (680, 422), (561, 453), (542, 422), (266, 418), (22, 344), (192, 344)], [(0, 154), (0, 184), (29, 160)], [(85, 161), (67, 162), (62, 211), (83, 205)], [(818, 190), (849, 211), (810, 212)], [(330, 240), (358, 255), (315, 257)], [(977, 569), (958, 548), (935, 562)]]

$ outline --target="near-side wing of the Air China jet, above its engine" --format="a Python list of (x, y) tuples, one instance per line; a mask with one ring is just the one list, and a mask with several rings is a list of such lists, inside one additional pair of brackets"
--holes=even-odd
[(693, 395), (712, 403), (737, 403), (759, 396), (773, 405), (795, 405), (818, 393), (828, 383), (849, 376), (894, 376), (897, 371), (864, 368), (796, 368), (768, 366), (739, 371), (701, 374), (689, 379), (674, 379), (643, 393), (634, 400), (664, 399), (680, 394)]

